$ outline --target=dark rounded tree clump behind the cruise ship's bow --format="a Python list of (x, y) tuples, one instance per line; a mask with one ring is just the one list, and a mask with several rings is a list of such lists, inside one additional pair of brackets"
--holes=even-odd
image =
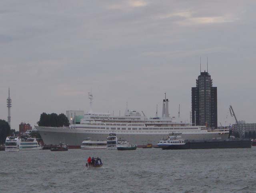
[(40, 120), (37, 122), (38, 126), (45, 126), (45, 127), (63, 127), (69, 126), (68, 118), (65, 114), (46, 114), (43, 112), (40, 115)]

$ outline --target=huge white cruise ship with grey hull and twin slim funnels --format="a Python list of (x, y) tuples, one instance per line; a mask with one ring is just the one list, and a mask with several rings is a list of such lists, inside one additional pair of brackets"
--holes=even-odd
[(35, 126), (45, 144), (58, 144), (65, 141), (70, 148), (80, 148), (84, 138), (105, 141), (110, 133), (117, 138), (128, 140), (138, 147), (145, 146), (148, 141), (156, 145), (160, 139), (167, 138), (170, 133), (181, 133), (186, 140), (208, 140), (212, 138), (228, 138), (229, 130), (215, 130), (205, 126), (192, 126), (179, 119), (171, 118), (168, 112), (168, 99), (163, 101), (162, 118), (146, 118), (144, 113), (126, 108), (124, 116), (112, 116), (109, 113), (92, 112), (92, 94), (89, 93), (90, 112), (84, 114), (80, 124), (69, 127)]

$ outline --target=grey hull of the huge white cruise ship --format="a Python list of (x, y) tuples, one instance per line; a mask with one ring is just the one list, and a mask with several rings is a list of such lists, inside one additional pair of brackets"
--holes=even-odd
[[(159, 140), (167, 138), (171, 131), (122, 131), (122, 130), (84, 130), (74, 128), (56, 128), (36, 126), (44, 144), (55, 145), (60, 142), (68, 144), (69, 148), (81, 148), (84, 138), (104, 141), (110, 133), (115, 133), (118, 139), (124, 139), (138, 147), (144, 147), (150, 141), (153, 145)], [(182, 131), (183, 139), (186, 140), (211, 140), (212, 138), (228, 138), (228, 132), (215, 132), (206, 130)]]

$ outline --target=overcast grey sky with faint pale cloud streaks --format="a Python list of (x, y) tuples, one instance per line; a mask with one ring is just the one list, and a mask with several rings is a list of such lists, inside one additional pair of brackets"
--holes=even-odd
[[(256, 1), (1, 0), (0, 119), (35, 125), (42, 112), (143, 110), (189, 121), (202, 70), (218, 87), (218, 123), (256, 122)], [(228, 115), (228, 117), (227, 117)]]

